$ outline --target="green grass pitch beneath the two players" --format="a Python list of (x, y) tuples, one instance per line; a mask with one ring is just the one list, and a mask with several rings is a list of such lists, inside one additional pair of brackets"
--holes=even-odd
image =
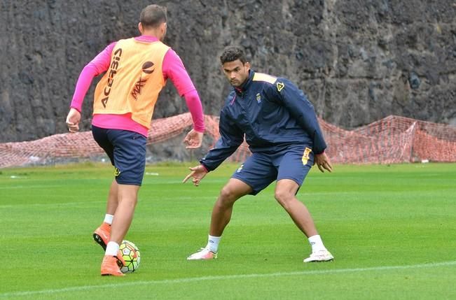
[(200, 187), (193, 164), (147, 166), (132, 227), (141, 266), (99, 276), (92, 241), (113, 170), (102, 164), (0, 170), (0, 299), (456, 299), (456, 164), (312, 169), (298, 193), (334, 262), (310, 246), (271, 185), (235, 204), (219, 259), (205, 246), (212, 205), (237, 168)]

